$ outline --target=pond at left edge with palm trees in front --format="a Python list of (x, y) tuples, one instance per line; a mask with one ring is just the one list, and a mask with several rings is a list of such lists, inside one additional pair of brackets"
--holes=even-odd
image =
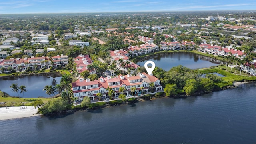
[[(10, 96), (18, 96), (17, 92), (12, 92), (12, 88), (10, 85), (12, 83), (20, 85), (25, 85), (27, 92), (24, 92), (25, 98), (38, 98), (38, 96), (49, 97), (43, 91), (44, 86), (53, 85), (52, 77), (48, 78), (47, 76), (26, 76), (23, 78), (15, 78), (14, 80), (0, 80), (0, 90), (6, 92)], [(61, 77), (56, 77), (56, 84), (60, 84)], [(56, 93), (57, 94), (57, 93)], [(20, 97), (23, 97), (23, 94), (20, 94)]]

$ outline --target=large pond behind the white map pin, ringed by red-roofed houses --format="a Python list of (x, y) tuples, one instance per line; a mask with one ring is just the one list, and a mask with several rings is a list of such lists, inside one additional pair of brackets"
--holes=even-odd
[(150, 56), (147, 60), (138, 62), (137, 64), (144, 66), (146, 61), (152, 60), (157, 67), (166, 71), (169, 71), (172, 67), (178, 65), (182, 65), (190, 69), (208, 68), (210, 66), (219, 65), (208, 61), (210, 59), (211, 58), (194, 54), (192, 52), (173, 52), (170, 54), (156, 54), (154, 56)]

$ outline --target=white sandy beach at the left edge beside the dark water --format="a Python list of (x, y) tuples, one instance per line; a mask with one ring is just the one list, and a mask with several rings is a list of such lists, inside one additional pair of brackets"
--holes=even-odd
[(4, 107), (0, 108), (0, 120), (40, 116), (40, 114), (36, 114), (36, 112), (37, 108), (34, 108), (33, 106)]

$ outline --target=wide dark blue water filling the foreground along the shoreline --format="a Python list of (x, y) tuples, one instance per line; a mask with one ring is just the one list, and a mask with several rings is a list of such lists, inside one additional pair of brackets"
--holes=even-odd
[(256, 84), (186, 99), (0, 121), (1, 144), (255, 144)]

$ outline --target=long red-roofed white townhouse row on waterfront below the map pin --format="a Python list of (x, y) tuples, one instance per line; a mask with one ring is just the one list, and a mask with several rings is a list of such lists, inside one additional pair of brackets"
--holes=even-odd
[(131, 88), (136, 88), (136, 93), (148, 93), (150, 83), (154, 83), (155, 90), (162, 90), (160, 80), (155, 76), (150, 76), (146, 73), (138, 73), (136, 76), (119, 75), (114, 78), (110, 76), (104, 78), (100, 77), (98, 80), (90, 81), (89, 79), (78, 79), (72, 83), (72, 92), (74, 97), (78, 99), (76, 101), (82, 101), (85, 96), (88, 96), (92, 100), (98, 99), (97, 93), (101, 93), (103, 98), (108, 97), (109, 88), (114, 90), (114, 97), (117, 98), (121, 93), (119, 92), (120, 87), (124, 87), (123, 94), (132, 94)]

